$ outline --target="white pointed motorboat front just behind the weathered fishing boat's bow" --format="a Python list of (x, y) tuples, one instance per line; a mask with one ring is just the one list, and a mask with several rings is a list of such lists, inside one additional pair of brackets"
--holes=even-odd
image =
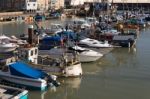
[(83, 48), (79, 46), (69, 47), (69, 50), (73, 50), (79, 53), (79, 59), (81, 62), (93, 62), (98, 60), (103, 56), (103, 54), (90, 50), (88, 48)]

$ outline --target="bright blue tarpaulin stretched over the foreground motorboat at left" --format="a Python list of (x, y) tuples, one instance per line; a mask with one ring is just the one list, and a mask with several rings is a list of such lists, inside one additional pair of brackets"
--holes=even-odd
[(10, 72), (12, 75), (26, 77), (26, 78), (44, 78), (47, 74), (30, 67), (28, 64), (23, 62), (15, 62), (9, 65)]

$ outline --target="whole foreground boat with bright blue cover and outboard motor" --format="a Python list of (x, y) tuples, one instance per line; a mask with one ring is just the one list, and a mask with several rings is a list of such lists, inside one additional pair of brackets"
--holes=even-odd
[(56, 84), (56, 79), (48, 74), (34, 69), (22, 61), (15, 61), (14, 58), (1, 60), (0, 78), (29, 89), (45, 90), (49, 84)]

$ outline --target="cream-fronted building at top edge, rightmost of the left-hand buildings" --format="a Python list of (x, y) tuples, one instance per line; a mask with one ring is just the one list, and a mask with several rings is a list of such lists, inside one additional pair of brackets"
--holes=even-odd
[(64, 0), (50, 0), (49, 6), (51, 9), (55, 9), (55, 10), (61, 9), (64, 7), (64, 2), (65, 2)]

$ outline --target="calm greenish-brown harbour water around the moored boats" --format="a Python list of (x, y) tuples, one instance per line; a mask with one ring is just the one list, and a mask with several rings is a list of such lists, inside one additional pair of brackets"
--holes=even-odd
[[(4, 34), (27, 31), (25, 24), (0, 26)], [(136, 48), (116, 48), (97, 62), (82, 64), (81, 78), (59, 79), (60, 87), (30, 91), (29, 99), (150, 99), (149, 43), (150, 29), (142, 30)]]

